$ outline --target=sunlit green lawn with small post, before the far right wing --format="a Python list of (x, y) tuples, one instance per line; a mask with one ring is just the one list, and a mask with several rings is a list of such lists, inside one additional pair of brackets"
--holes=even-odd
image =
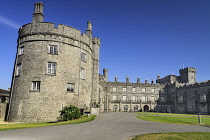
[(141, 114), (140, 116), (137, 116), (137, 118), (146, 120), (146, 121), (210, 126), (210, 118), (204, 118), (204, 116), (209, 117), (209, 115), (201, 115), (201, 124), (199, 124), (197, 115), (158, 113), (158, 116), (157, 116), (156, 113), (147, 113), (145, 115), (144, 113), (141, 113), (141, 112), (137, 114)]

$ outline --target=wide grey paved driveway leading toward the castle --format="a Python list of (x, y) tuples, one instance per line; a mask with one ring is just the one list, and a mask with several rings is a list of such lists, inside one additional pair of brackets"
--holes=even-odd
[(126, 140), (147, 133), (210, 132), (208, 127), (148, 122), (136, 115), (103, 113), (88, 123), (0, 131), (0, 140)]

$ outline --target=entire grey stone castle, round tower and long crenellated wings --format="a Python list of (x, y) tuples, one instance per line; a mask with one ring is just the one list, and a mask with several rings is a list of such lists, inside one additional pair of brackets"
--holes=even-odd
[(156, 82), (108, 81), (99, 74), (100, 39), (44, 22), (44, 5), (34, 5), (32, 23), (19, 29), (17, 55), (6, 120), (55, 121), (59, 111), (75, 105), (93, 114), (107, 111), (210, 113), (210, 81), (196, 82), (196, 69), (180, 69), (180, 76), (157, 76)]

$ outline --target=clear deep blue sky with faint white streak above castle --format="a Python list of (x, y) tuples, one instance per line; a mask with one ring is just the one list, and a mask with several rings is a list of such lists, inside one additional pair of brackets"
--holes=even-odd
[[(10, 87), (18, 28), (30, 23), (35, 0), (1, 0), (0, 88)], [(101, 38), (100, 73), (131, 82), (179, 75), (197, 68), (197, 81), (210, 79), (209, 0), (42, 0), (44, 21), (82, 32), (86, 22)]]

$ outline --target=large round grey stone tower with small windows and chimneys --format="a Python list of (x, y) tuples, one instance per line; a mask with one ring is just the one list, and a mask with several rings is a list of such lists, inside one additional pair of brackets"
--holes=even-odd
[(7, 121), (55, 121), (64, 106), (90, 111), (94, 100), (100, 39), (92, 38), (91, 22), (86, 33), (55, 27), (43, 22), (43, 7), (35, 3), (32, 23), (19, 29)]

